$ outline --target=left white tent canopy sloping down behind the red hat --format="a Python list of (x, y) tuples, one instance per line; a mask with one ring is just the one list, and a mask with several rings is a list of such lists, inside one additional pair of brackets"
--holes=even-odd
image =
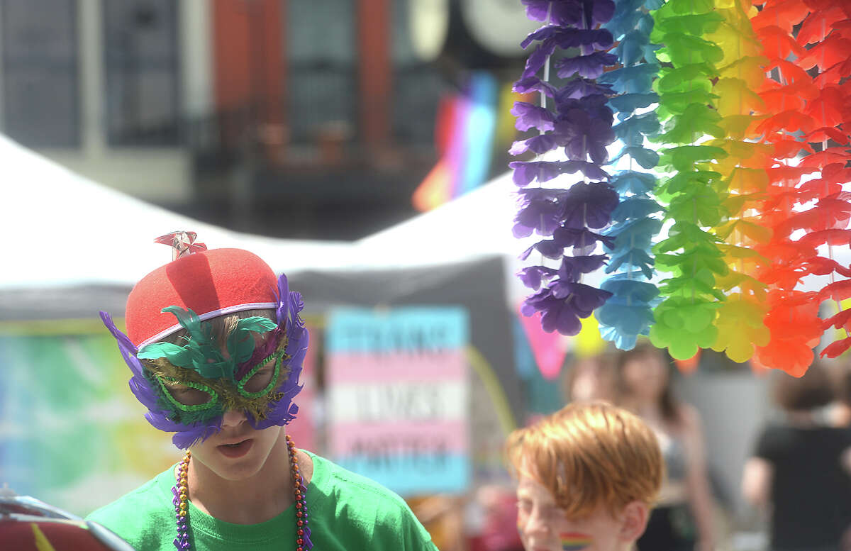
[(0, 289), (133, 285), (170, 260), (153, 238), (192, 230), (210, 248), (241, 247), (276, 272), (350, 262), (351, 244), (249, 236), (169, 212), (95, 184), (0, 135), (3, 270)]

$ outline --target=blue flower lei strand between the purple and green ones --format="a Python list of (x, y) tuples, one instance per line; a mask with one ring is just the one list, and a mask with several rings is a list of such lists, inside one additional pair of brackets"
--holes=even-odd
[[(648, 5), (652, 3), (652, 5)], [(604, 25), (618, 41), (614, 48), (622, 68), (608, 71), (597, 82), (608, 84), (619, 94), (609, 99), (619, 123), (615, 136), (624, 144), (621, 157), (630, 159), (630, 170), (614, 174), (611, 180), (620, 195), (620, 204), (612, 213), (613, 224), (605, 234), (614, 238), (605, 247), (611, 258), (606, 272), (612, 274), (601, 288), (612, 293), (597, 310), (600, 334), (619, 349), (632, 349), (639, 335), (648, 335), (654, 323), (653, 309), (659, 304), (659, 289), (649, 281), (654, 275), (654, 236), (659, 233), (658, 213), (664, 209), (652, 196), (656, 178), (653, 174), (633, 170), (654, 168), (659, 155), (644, 147), (645, 136), (660, 131), (654, 111), (637, 114), (636, 110), (652, 105), (658, 97), (651, 89), (659, 73), (654, 44), (650, 43), (653, 18), (647, 9), (658, 8), (658, 0), (617, 0), (612, 19)]]

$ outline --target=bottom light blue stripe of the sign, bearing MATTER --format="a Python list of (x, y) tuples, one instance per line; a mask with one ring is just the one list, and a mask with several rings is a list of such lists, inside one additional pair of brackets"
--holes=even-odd
[(362, 474), (400, 496), (445, 491), (460, 493), (470, 484), (470, 460), (465, 455), (365, 456), (336, 460), (344, 469)]

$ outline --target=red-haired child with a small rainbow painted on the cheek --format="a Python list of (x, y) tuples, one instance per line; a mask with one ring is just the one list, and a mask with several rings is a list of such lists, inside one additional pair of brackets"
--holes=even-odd
[(628, 551), (662, 481), (659, 443), (640, 418), (607, 402), (564, 406), (506, 444), (527, 551)]

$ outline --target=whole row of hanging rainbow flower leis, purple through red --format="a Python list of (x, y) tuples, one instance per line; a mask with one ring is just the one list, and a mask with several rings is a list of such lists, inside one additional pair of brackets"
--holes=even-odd
[[(649, 335), (678, 359), (712, 348), (798, 376), (825, 330), (845, 333), (822, 355), (851, 348), (851, 267), (832, 251), (851, 243), (851, 2), (522, 2), (545, 25), (515, 84), (542, 101), (512, 111), (539, 131), (511, 148), (538, 156), (510, 163), (514, 231), (549, 238), (521, 258), (550, 264), (521, 271), (523, 313), (571, 335), (596, 311), (621, 349)], [(588, 181), (552, 187), (565, 173)], [(601, 288), (581, 282), (603, 266)], [(802, 291), (808, 276), (829, 283)]]

